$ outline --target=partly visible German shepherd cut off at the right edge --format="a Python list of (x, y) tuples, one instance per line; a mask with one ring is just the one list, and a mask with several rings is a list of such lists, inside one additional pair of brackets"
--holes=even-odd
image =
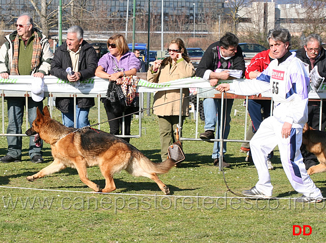
[(314, 153), (319, 161), (318, 165), (311, 166), (308, 174), (320, 173), (326, 171), (326, 132), (314, 130), (306, 123), (303, 128), (302, 143), (306, 149)]

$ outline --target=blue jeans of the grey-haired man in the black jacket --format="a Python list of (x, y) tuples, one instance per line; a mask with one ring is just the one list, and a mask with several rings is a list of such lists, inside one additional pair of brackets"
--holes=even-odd
[[(70, 102), (68, 107), (68, 113), (62, 114), (62, 123), (68, 128), (74, 127), (74, 119), (73, 119), (73, 103)], [(76, 119), (77, 119), (77, 128), (83, 128), (90, 126), (90, 121), (88, 120), (88, 113), (90, 112), (90, 108), (78, 108), (76, 105)]]

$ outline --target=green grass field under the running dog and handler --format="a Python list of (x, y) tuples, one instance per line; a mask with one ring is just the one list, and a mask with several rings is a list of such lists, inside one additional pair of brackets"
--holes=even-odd
[[(243, 111), (237, 100), (233, 109)], [(96, 116), (91, 110), (91, 117)], [(232, 114), (230, 139), (243, 139), (244, 115)], [(105, 118), (102, 116), (103, 119)], [(55, 110), (53, 118), (61, 120)], [(91, 123), (96, 123), (94, 118)], [(143, 119), (143, 136), (131, 144), (154, 162), (160, 160), (160, 143), (155, 115)], [(204, 123), (199, 124), (199, 132)], [(108, 131), (103, 125), (102, 130)], [(132, 121), (133, 134), (138, 120)], [(187, 119), (184, 137), (195, 137), (195, 122)], [(6, 137), (0, 137), (0, 156), (6, 155)], [(325, 202), (295, 204), (300, 197), (290, 186), (276, 148), (270, 171), (274, 200), (246, 200), (227, 191), (222, 171), (212, 166), (212, 143), (184, 141), (186, 161), (160, 179), (171, 196), (164, 196), (154, 181), (133, 177), (122, 171), (114, 176), (117, 190), (95, 194), (80, 181), (76, 170), (67, 168), (34, 181), (25, 179), (52, 162), (44, 144), (44, 164), (33, 164), (28, 157), (28, 138), (23, 138), (20, 163), (0, 163), (0, 240), (1, 242), (324, 242)], [(240, 193), (253, 187), (257, 171), (239, 153), (239, 143), (228, 143), (225, 169), (229, 188)], [(105, 181), (98, 167), (88, 176), (101, 188)], [(326, 174), (312, 179), (326, 195)], [(40, 190), (32, 190), (40, 189)], [(292, 235), (293, 225), (311, 226), (310, 235)], [(298, 232), (298, 230), (296, 230)]]

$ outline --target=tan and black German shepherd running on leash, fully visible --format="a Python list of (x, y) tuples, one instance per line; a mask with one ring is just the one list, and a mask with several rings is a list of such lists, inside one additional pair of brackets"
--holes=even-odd
[[(67, 128), (50, 117), (47, 106), (43, 108), (43, 114), (37, 109), (37, 117), (25, 133), (28, 136), (35, 135), (36, 144), (40, 139), (49, 143), (54, 160), (38, 173), (26, 177), (29, 181), (71, 167), (77, 169), (80, 180), (95, 192), (112, 192), (116, 190), (113, 175), (126, 170), (133, 176), (151, 178), (160, 190), (169, 195), (169, 188), (157, 174), (167, 173), (176, 163), (175, 160), (153, 163), (137, 148), (119, 137), (89, 127)], [(99, 166), (105, 178), (104, 189), (88, 179), (87, 167), (95, 165)]]

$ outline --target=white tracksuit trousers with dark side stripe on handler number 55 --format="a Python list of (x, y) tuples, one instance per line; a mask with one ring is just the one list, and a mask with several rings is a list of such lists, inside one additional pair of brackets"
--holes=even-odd
[(252, 158), (258, 172), (256, 188), (267, 196), (273, 193), (267, 168), (267, 155), (279, 146), (283, 169), (292, 187), (298, 193), (311, 198), (322, 198), (320, 190), (307, 174), (300, 152), (302, 128), (292, 128), (288, 138), (282, 138), (282, 126), (274, 116), (263, 120), (258, 131), (250, 141)]

